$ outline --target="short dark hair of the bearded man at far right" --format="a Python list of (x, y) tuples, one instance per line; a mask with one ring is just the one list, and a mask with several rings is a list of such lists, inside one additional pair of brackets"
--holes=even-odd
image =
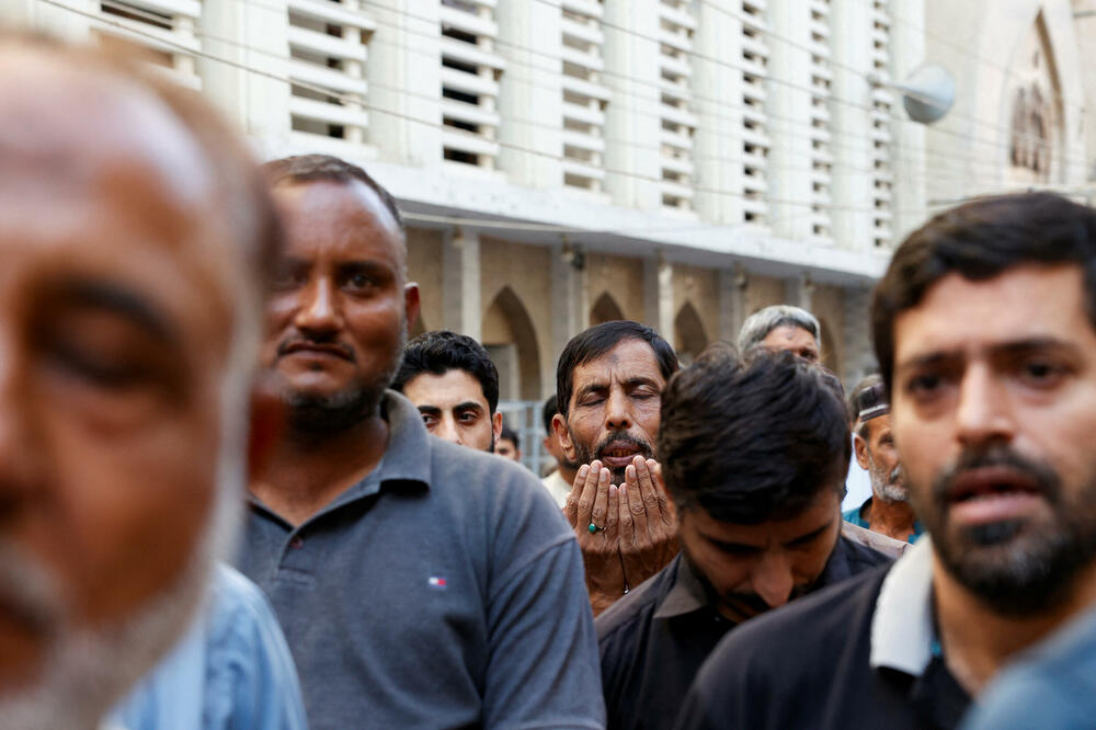
[(894, 252), (871, 301), (876, 360), (894, 392), (894, 320), (948, 274), (978, 282), (1024, 264), (1074, 263), (1096, 324), (1096, 210), (1053, 193), (994, 195), (933, 217)]

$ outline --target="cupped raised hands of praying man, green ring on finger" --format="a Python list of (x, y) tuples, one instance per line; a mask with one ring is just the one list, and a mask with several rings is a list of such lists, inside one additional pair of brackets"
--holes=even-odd
[(582, 550), (594, 615), (677, 552), (677, 523), (659, 464), (637, 456), (624, 484), (610, 479), (600, 460), (580, 467), (564, 509)]

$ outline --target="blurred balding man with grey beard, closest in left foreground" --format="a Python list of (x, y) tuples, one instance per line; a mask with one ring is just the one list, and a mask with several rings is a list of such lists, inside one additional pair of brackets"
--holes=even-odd
[(96, 727), (187, 626), (160, 664), (172, 693), (125, 719), (305, 727), (270, 607), (215, 568), (279, 243), (242, 141), (196, 96), (0, 34), (5, 730)]

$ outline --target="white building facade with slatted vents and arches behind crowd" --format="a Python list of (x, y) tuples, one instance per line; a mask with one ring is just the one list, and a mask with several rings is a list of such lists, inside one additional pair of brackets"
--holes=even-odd
[[(407, 214), (419, 329), (481, 340), (503, 397), (636, 319), (683, 360), (778, 303), (846, 383), (901, 237), (970, 195), (1091, 178), (1092, 0), (5, 0), (147, 48), (264, 157), (361, 163)], [(1089, 44), (1096, 47), (1096, 44)], [(889, 84), (956, 79), (933, 126)], [(1088, 65), (1091, 67), (1091, 65)]]

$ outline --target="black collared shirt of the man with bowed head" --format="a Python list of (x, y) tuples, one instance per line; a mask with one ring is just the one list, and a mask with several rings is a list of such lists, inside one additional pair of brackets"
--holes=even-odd
[[(815, 588), (889, 562), (840, 536)], [(608, 727), (673, 727), (697, 670), (733, 626), (681, 555), (613, 604), (594, 621)]]

